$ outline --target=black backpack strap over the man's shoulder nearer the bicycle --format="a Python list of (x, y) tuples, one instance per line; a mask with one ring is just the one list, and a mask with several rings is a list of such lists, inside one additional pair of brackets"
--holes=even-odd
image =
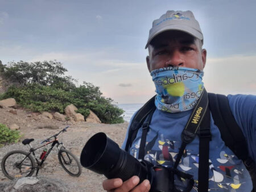
[(142, 126), (144, 120), (150, 111), (155, 110), (155, 96), (152, 97), (145, 105), (143, 105), (130, 123), (128, 138), (125, 145), (125, 151), (128, 151), (137, 136), (139, 128)]

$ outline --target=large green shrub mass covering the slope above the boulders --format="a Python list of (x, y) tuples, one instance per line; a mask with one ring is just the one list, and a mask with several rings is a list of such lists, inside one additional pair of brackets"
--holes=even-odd
[(16, 102), (35, 112), (49, 111), (64, 113), (65, 107), (73, 104), (77, 112), (86, 118), (89, 109), (102, 123), (123, 123), (123, 110), (113, 105), (111, 98), (102, 96), (100, 87), (88, 82), (76, 87), (71, 76), (60, 62), (11, 62), (2, 65), (7, 77), (15, 77), (19, 87), (11, 86), (0, 98), (15, 98)]

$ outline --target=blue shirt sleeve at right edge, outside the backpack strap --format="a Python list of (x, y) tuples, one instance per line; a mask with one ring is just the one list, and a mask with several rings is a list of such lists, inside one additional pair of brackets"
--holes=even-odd
[(229, 105), (247, 141), (249, 156), (256, 162), (256, 96), (228, 95)]

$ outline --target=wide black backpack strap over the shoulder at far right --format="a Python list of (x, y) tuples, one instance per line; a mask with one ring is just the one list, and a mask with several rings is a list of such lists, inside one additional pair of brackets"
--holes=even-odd
[(249, 171), (256, 191), (256, 168), (255, 162), (249, 157), (245, 136), (238, 126), (232, 114), (228, 98), (225, 95), (208, 93), (209, 107), (212, 112), (214, 124), (221, 133), (221, 139), (233, 153), (240, 158)]

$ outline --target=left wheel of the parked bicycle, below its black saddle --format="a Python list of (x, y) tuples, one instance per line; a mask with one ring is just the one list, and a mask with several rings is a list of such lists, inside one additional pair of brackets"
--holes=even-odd
[[(22, 164), (19, 164), (21, 161)], [(24, 165), (24, 167), (22, 165)], [(22, 150), (15, 150), (7, 153), (1, 162), (2, 172), (10, 180), (32, 176), (35, 172), (35, 165), (35, 160), (29, 155), (29, 152)], [(11, 172), (11, 169), (13, 169), (13, 172)], [(14, 173), (16, 171), (18, 171), (18, 173)]]

